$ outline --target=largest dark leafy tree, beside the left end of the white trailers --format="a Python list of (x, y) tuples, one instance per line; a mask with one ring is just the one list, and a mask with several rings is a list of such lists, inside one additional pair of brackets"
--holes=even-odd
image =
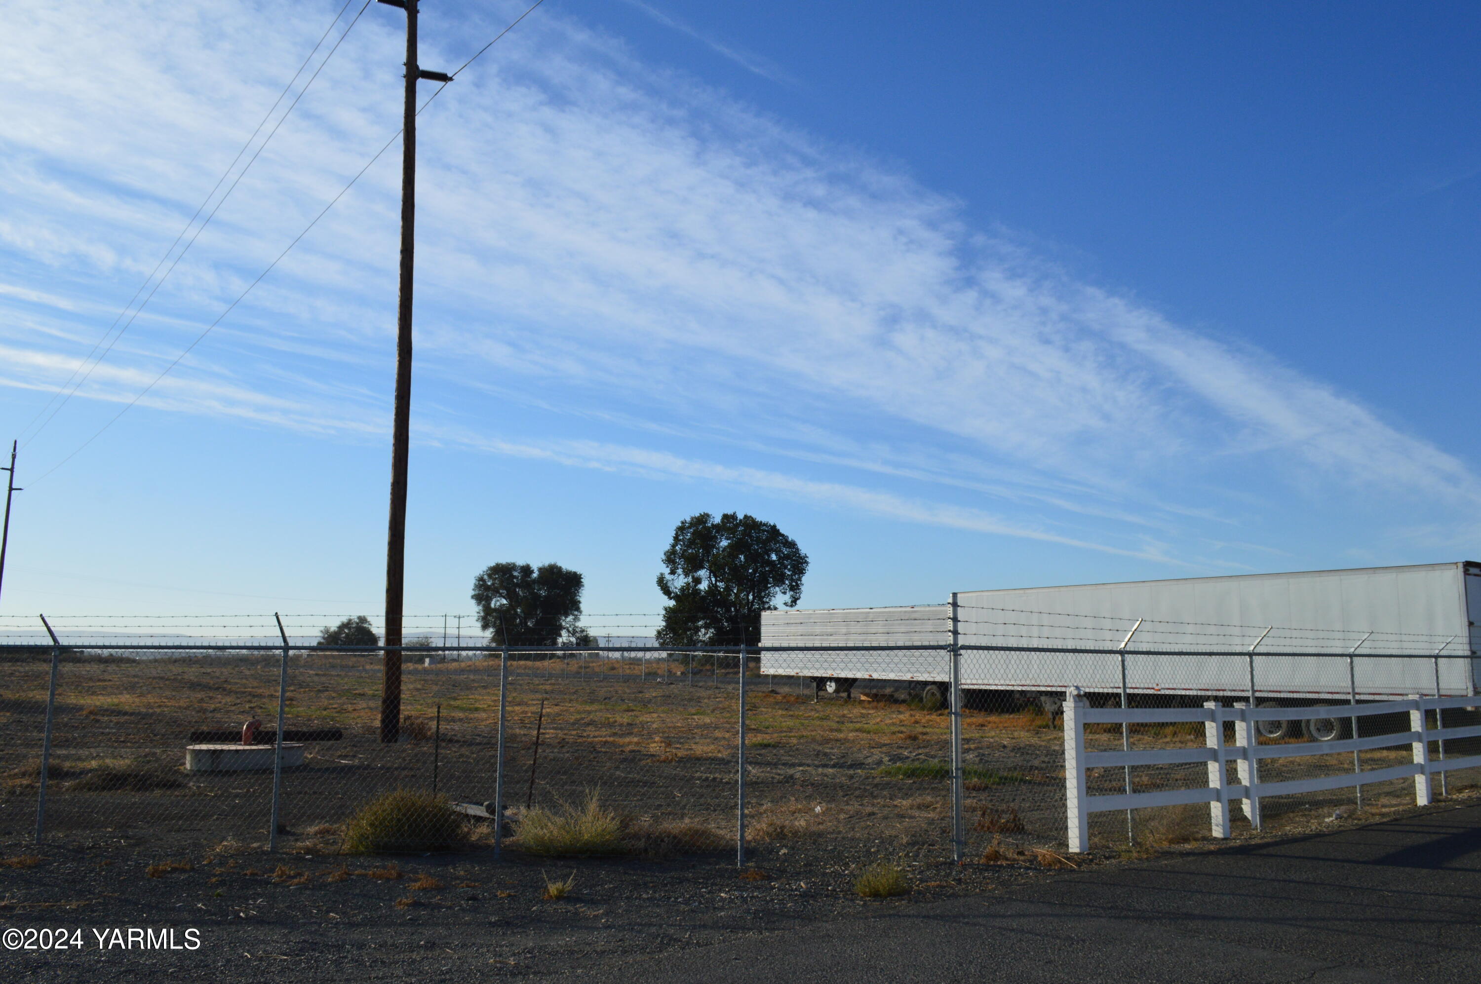
[(674, 528), (663, 570), (659, 645), (755, 645), (761, 613), (801, 599), (807, 555), (776, 524), (702, 512)]

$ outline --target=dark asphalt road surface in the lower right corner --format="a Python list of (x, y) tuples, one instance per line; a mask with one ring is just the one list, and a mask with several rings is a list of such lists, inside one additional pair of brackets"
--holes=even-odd
[(582, 981), (1481, 981), (1481, 806), (818, 922)]

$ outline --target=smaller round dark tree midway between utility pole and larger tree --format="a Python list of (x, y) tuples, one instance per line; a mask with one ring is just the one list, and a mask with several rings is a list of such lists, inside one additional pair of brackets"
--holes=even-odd
[(560, 564), (493, 564), (472, 580), (490, 645), (591, 645), (581, 627), (581, 571)]

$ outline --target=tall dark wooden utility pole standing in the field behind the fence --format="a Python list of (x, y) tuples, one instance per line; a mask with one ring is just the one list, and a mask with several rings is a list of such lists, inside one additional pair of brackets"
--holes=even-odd
[(385, 654), (381, 741), (401, 734), (401, 598), (406, 580), (406, 460), (412, 426), (412, 274), (416, 250), (416, 80), (450, 75), (416, 64), (416, 0), (381, 0), (406, 10), (406, 104), (401, 108), (401, 287), (395, 309), (395, 410), (391, 425), (391, 521), (385, 543)]

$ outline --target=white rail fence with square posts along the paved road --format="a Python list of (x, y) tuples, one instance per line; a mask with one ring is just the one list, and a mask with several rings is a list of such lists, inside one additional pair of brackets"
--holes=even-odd
[[(1176, 806), (1179, 803), (1208, 803), (1214, 838), (1228, 838), (1231, 827), (1229, 803), (1241, 801), (1246, 817), (1259, 826), (1260, 799), (1288, 793), (1312, 793), (1328, 789), (1343, 789), (1382, 783), (1385, 780), (1414, 777), (1414, 801), (1420, 806), (1434, 799), (1431, 780), (1445, 769), (1462, 769), (1481, 765), (1481, 755), (1459, 759), (1431, 759), (1431, 741), (1453, 741), (1481, 735), (1481, 725), (1431, 728), (1425, 712), (1444, 712), (1481, 704), (1478, 697), (1410, 697), (1379, 704), (1325, 704), (1320, 707), (1248, 707), (1235, 704), (1223, 707), (1208, 701), (1203, 707), (1089, 707), (1075, 691), (1065, 695), (1065, 808), (1069, 821), (1069, 849), (1086, 851), (1090, 846), (1090, 814), (1114, 809), (1140, 809), (1143, 806)], [(1371, 715), (1394, 715), (1408, 712), (1410, 729), (1398, 734), (1373, 737), (1351, 737), (1337, 741), (1302, 741), (1294, 744), (1251, 743), (1256, 722), (1260, 721), (1309, 721), (1314, 718), (1367, 718)], [(1442, 721), (1442, 715), (1437, 716)], [(1087, 752), (1087, 724), (1177, 724), (1201, 722), (1204, 725), (1204, 747), (1182, 749), (1134, 749), (1117, 752)], [(1234, 744), (1225, 744), (1223, 725), (1234, 724)], [(1126, 729), (1123, 728), (1123, 734)], [(1357, 729), (1354, 728), (1354, 735)], [(1404, 765), (1354, 771), (1318, 778), (1260, 781), (1260, 762), (1308, 755), (1331, 755), (1334, 752), (1364, 752), (1408, 744), (1414, 759)], [(1441, 746), (1444, 747), (1444, 746)], [(1130, 768), (1143, 765), (1176, 765), (1206, 762), (1207, 786), (1194, 789), (1170, 789), (1148, 793), (1130, 792)], [(1231, 783), (1228, 762), (1235, 764), (1238, 783)], [(1127, 769), (1127, 792), (1112, 796), (1090, 796), (1086, 793), (1086, 772), (1097, 768)]]

